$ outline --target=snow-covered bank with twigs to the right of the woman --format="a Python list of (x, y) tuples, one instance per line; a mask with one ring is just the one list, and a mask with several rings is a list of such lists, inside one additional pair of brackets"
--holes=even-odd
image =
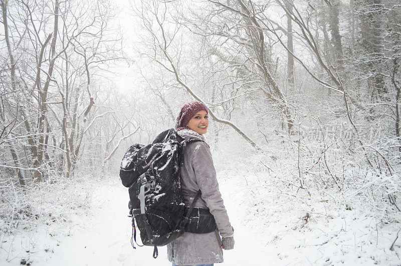
[[(227, 262), (233, 259), (229, 265), (242, 265), (236, 263), (237, 252), (255, 261), (249, 265), (401, 265), (401, 240), (394, 251), (389, 249), (399, 224), (382, 226), (360, 210), (312, 200), (313, 194), (306, 200), (295, 192), (278, 194), (273, 185), (264, 186), (252, 175), (225, 175), (225, 183), (233, 185), (222, 187), (229, 213), (246, 232), (235, 234), (236, 254), (225, 254)], [(237, 249), (248, 239), (255, 241)], [(253, 257), (255, 250), (261, 252), (258, 258)]]

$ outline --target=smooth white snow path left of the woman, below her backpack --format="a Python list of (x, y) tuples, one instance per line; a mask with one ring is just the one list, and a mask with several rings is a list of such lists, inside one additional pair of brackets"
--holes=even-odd
[(166, 265), (165, 247), (159, 248), (157, 259), (152, 257), (152, 247), (132, 248), (128, 189), (118, 179), (95, 192), (92, 209), (84, 230), (66, 237), (62, 248), (39, 265)]

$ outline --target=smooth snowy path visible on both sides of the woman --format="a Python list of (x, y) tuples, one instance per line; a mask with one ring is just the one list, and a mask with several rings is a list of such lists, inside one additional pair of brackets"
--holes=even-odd
[[(227, 186), (222, 181), (221, 191), (235, 228), (236, 244), (234, 250), (224, 252), (225, 262), (218, 265), (263, 265), (266, 255), (262, 245), (241, 225), (236, 215), (238, 202), (229, 196), (239, 184), (231, 182)], [(152, 247), (131, 247), (127, 203), (128, 190), (119, 180), (101, 187), (93, 196), (92, 214), (85, 218), (85, 227), (63, 238), (47, 261), (34, 261), (33, 265), (170, 265), (166, 247), (159, 247), (156, 259), (152, 257)]]

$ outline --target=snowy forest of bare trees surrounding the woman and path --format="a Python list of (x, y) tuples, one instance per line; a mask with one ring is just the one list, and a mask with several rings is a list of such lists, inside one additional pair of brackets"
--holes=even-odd
[[(49, 247), (10, 239), (68, 237), (122, 191), (127, 148), (197, 100), (223, 198), (265, 257), (401, 263), (399, 0), (0, 3), (0, 261), (45, 263), (25, 249)], [(291, 237), (306, 260), (283, 255)]]

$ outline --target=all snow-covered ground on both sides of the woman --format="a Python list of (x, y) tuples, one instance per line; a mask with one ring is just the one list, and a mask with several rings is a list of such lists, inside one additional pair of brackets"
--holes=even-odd
[[(399, 223), (382, 226), (374, 215), (344, 205), (344, 198), (325, 199), (288, 187), (280, 192), (281, 183), (267, 172), (216, 161), (236, 240), (220, 265), (401, 264), (401, 239), (389, 249)], [(92, 189), (90, 207), (72, 213), (68, 224), (1, 235), (0, 264), (20, 265), (24, 259), (31, 265), (169, 265), (165, 247), (156, 259), (152, 247), (132, 249), (128, 191), (118, 176)]]

